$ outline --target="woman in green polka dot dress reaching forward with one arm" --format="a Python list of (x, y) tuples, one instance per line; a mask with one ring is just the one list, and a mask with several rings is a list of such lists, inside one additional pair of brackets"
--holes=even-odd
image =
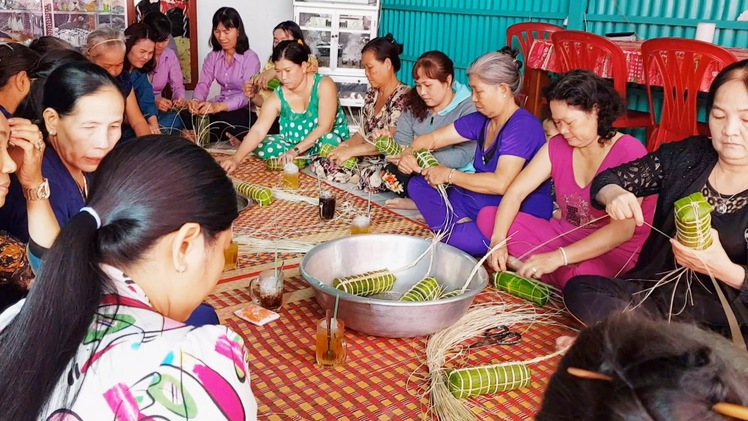
[[(318, 153), (323, 143), (337, 146), (350, 136), (338, 103), (338, 90), (329, 77), (309, 73), (309, 48), (301, 41), (283, 41), (273, 49), (273, 62), (282, 86), (268, 98), (260, 118), (239, 150), (221, 162), (229, 174), (250, 152), (260, 159), (292, 161)], [(280, 116), (280, 134), (268, 135)]]

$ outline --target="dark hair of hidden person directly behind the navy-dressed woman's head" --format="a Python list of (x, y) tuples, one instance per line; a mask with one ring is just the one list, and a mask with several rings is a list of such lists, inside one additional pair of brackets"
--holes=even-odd
[(31, 120), (37, 125), (42, 125), (42, 99), (44, 96), (44, 85), (49, 75), (58, 67), (71, 62), (87, 62), (86, 57), (75, 50), (50, 50), (39, 60), (36, 68), (29, 74), (32, 79), (29, 94), (18, 106), (15, 115)]

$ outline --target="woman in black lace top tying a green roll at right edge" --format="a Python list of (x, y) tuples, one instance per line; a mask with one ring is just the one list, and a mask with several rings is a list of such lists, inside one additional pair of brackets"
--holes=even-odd
[[(725, 310), (706, 275), (711, 273), (748, 338), (748, 60), (726, 67), (715, 78), (707, 111), (712, 139), (692, 137), (664, 144), (593, 181), (593, 205), (605, 208), (613, 219), (634, 218), (642, 224), (636, 198), (659, 195), (653, 225), (662, 233), (652, 230), (639, 262), (625, 279), (580, 276), (569, 281), (566, 306), (585, 324), (641, 304), (638, 308), (654, 315), (672, 313), (673, 318), (726, 332)], [(675, 237), (674, 202), (699, 191), (714, 207), (714, 243), (693, 251), (663, 233)], [(689, 287), (685, 280), (670, 282), (644, 299), (644, 289), (677, 267), (692, 269), (701, 283)]]

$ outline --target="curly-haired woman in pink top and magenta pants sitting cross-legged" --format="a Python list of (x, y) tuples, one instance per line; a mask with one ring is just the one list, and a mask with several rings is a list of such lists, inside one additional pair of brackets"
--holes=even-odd
[[(552, 138), (517, 176), (497, 208), (483, 208), (478, 227), (491, 238), (489, 263), (507, 270), (507, 259), (526, 259), (517, 273), (563, 287), (576, 275), (615, 276), (628, 272), (649, 235), (633, 220), (610, 221), (589, 202), (596, 174), (644, 156), (636, 138), (616, 132), (613, 121), (624, 111), (621, 97), (607, 81), (586, 70), (562, 75), (546, 94), (560, 135)], [(519, 212), (522, 201), (548, 178), (556, 186), (561, 218), (545, 219)], [(652, 222), (655, 197), (642, 204)], [(519, 262), (518, 262), (519, 263)]]

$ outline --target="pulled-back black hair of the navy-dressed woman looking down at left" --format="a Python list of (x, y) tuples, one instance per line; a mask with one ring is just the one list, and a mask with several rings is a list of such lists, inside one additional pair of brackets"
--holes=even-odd
[[(73, 112), (75, 104), (84, 96), (99, 92), (102, 88), (111, 87), (120, 94), (117, 81), (102, 69), (89, 61), (63, 64), (47, 78), (44, 83), (41, 110), (51, 108), (60, 116)], [(124, 102), (125, 97), (122, 96)], [(41, 119), (44, 122), (44, 119)], [(41, 125), (42, 132), (47, 135), (47, 127)]]

